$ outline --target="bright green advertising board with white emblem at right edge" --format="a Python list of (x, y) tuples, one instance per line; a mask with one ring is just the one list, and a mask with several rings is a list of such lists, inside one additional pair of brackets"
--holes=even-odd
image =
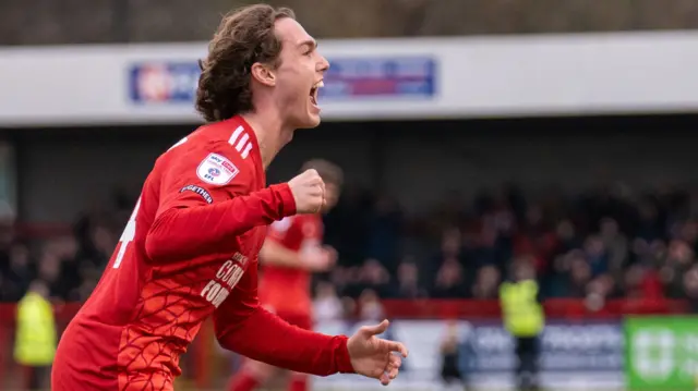
[(641, 317), (625, 322), (630, 390), (695, 390), (698, 317)]

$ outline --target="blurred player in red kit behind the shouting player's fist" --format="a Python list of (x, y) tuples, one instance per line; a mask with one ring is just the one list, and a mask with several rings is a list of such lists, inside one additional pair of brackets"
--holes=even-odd
[[(328, 212), (339, 197), (342, 172), (326, 160), (311, 160), (301, 172), (316, 170), (325, 183), (325, 205)], [(291, 325), (305, 330), (313, 326), (311, 272), (327, 271), (334, 266), (337, 253), (323, 246), (321, 213), (293, 216), (274, 222), (260, 253), (263, 273), (260, 281), (260, 302)], [(277, 375), (270, 365), (248, 361), (230, 381), (229, 391), (252, 391)], [(308, 375), (291, 374), (289, 391), (306, 391)]]

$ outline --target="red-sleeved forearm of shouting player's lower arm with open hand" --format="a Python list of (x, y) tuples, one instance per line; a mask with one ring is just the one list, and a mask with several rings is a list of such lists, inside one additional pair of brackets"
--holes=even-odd
[(317, 376), (353, 372), (347, 337), (300, 329), (263, 308), (228, 333), (218, 335), (218, 341), (252, 359), (299, 372)]

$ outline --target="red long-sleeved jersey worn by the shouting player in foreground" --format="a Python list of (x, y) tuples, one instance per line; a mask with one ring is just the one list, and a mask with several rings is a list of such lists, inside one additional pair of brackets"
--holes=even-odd
[[(171, 390), (180, 354), (212, 315), (224, 347), (294, 370), (349, 371), (346, 338), (299, 332), (258, 306), (266, 225), (296, 212), (288, 185), (264, 186), (256, 138), (241, 118), (202, 126), (160, 156), (61, 338), (52, 390)], [(268, 335), (285, 342), (272, 345)], [(301, 343), (324, 347), (296, 354)]]

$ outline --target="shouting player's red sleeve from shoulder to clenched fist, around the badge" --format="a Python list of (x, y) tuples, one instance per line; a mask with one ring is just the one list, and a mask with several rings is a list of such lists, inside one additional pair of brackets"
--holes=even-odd
[(163, 175), (161, 206), (145, 243), (155, 264), (222, 253), (245, 231), (296, 213), (287, 184), (246, 194), (250, 174), (242, 169), (225, 184), (204, 181), (198, 171), (207, 152), (182, 157)]

